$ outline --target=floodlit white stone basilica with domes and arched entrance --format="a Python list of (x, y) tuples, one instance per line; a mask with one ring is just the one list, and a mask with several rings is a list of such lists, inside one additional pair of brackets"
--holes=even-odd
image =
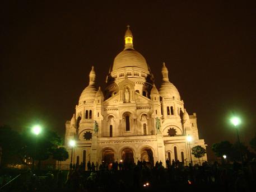
[[(133, 47), (129, 26), (124, 49), (114, 58), (104, 90), (95, 86), (97, 75), (102, 75), (95, 71), (92, 67), (89, 85), (82, 91), (72, 119), (66, 121), (66, 164), (145, 160), (166, 166), (167, 159), (184, 164), (198, 161), (191, 148), (206, 148), (206, 144), (198, 137), (196, 113), (186, 111), (165, 63), (162, 77), (155, 74), (162, 78), (157, 88), (146, 59)], [(73, 147), (68, 144), (71, 139), (75, 139)]]

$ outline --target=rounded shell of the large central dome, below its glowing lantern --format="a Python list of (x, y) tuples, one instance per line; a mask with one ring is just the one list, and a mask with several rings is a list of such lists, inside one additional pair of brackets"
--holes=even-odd
[(125, 49), (115, 57), (112, 71), (124, 67), (138, 67), (148, 71), (146, 59), (134, 49)]

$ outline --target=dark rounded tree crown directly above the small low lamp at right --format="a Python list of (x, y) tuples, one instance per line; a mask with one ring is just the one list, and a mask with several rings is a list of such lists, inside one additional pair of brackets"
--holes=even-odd
[(212, 144), (212, 151), (217, 157), (222, 157), (224, 154), (230, 156), (233, 145), (229, 141), (222, 141), (220, 143)]

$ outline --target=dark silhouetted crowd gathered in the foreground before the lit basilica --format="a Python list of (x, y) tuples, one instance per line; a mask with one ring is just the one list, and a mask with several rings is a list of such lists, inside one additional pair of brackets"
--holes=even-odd
[[(30, 173), (30, 176), (28, 175)], [(24, 174), (25, 175), (25, 174)], [(87, 162), (71, 165), (68, 173), (59, 170), (36, 176), (27, 171), (16, 191), (254, 191), (256, 162), (203, 162), (185, 166), (179, 161), (155, 165), (146, 161)], [(31, 178), (29, 180), (29, 177)], [(25, 185), (26, 184), (26, 185)], [(12, 191), (12, 190), (10, 190)]]

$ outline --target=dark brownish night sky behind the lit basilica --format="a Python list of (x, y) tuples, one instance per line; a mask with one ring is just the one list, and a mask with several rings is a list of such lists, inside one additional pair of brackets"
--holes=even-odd
[(157, 88), (164, 61), (188, 113), (197, 113), (199, 137), (234, 142), (232, 113), (243, 118), (241, 140), (253, 137), (255, 1), (95, 2), (1, 1), (1, 125), (41, 123), (63, 135), (91, 65), (105, 87), (129, 24)]

